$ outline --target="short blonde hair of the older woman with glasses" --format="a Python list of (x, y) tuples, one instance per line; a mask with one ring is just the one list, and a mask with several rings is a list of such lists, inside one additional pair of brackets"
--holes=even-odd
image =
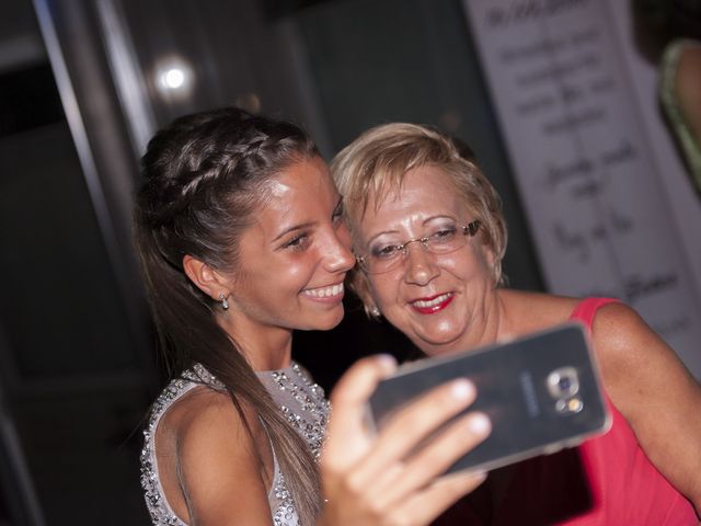
[[(409, 123), (383, 124), (368, 129), (338, 152), (331, 163), (331, 173), (343, 195), (349, 226), (359, 224), (371, 197), (377, 211), (388, 192), (402, 185), (406, 172), (423, 165), (440, 169), (475, 219), (482, 221), (480, 239), (494, 254), (494, 283), (504, 284), (502, 260), (508, 236), (502, 199), (475, 163), (470, 148), (434, 128)], [(366, 312), (372, 316), (367, 279), (357, 268), (350, 276), (350, 286), (363, 299)]]

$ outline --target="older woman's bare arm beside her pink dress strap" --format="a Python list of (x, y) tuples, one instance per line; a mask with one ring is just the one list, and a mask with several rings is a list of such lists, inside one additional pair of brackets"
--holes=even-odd
[(611, 401), (657, 469), (701, 513), (701, 386), (629, 307), (604, 307), (594, 342)]

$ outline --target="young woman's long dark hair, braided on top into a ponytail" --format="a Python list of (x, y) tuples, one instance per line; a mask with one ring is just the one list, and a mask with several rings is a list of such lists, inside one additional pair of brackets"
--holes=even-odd
[(264, 188), (285, 168), (319, 156), (298, 126), (234, 107), (186, 115), (157, 133), (141, 159), (135, 241), (169, 371), (204, 365), (268, 431), (302, 524), (321, 507), (321, 482), (303, 439), (285, 421), (235, 341), (217, 323), (218, 304), (186, 276), (183, 256), (235, 272), (237, 245)]

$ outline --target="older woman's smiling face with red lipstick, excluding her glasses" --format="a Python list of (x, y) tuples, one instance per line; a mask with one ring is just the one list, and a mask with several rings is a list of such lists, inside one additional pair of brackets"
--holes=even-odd
[[(402, 186), (390, 190), (379, 204), (370, 197), (365, 215), (354, 225), (360, 254), (476, 218), (447, 175), (433, 165), (409, 171)], [(398, 267), (365, 276), (370, 296), (365, 299), (427, 354), (468, 348), (470, 330), (484, 322), (484, 304), (494, 291), (492, 261), (480, 232), (447, 254), (432, 254), (420, 242), (410, 243)]]

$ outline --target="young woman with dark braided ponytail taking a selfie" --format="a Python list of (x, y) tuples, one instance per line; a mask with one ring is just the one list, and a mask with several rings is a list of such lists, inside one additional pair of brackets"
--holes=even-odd
[[(489, 433), (467, 381), (375, 437), (363, 407), (388, 358), (358, 364), (329, 402), (291, 361), (295, 330), (343, 317), (354, 266), (341, 196), (310, 138), (235, 108), (188, 115), (142, 159), (136, 243), (173, 380), (141, 456), (154, 524), (426, 524), (479, 476), (440, 477)], [(321, 458), (321, 468), (318, 460)]]

